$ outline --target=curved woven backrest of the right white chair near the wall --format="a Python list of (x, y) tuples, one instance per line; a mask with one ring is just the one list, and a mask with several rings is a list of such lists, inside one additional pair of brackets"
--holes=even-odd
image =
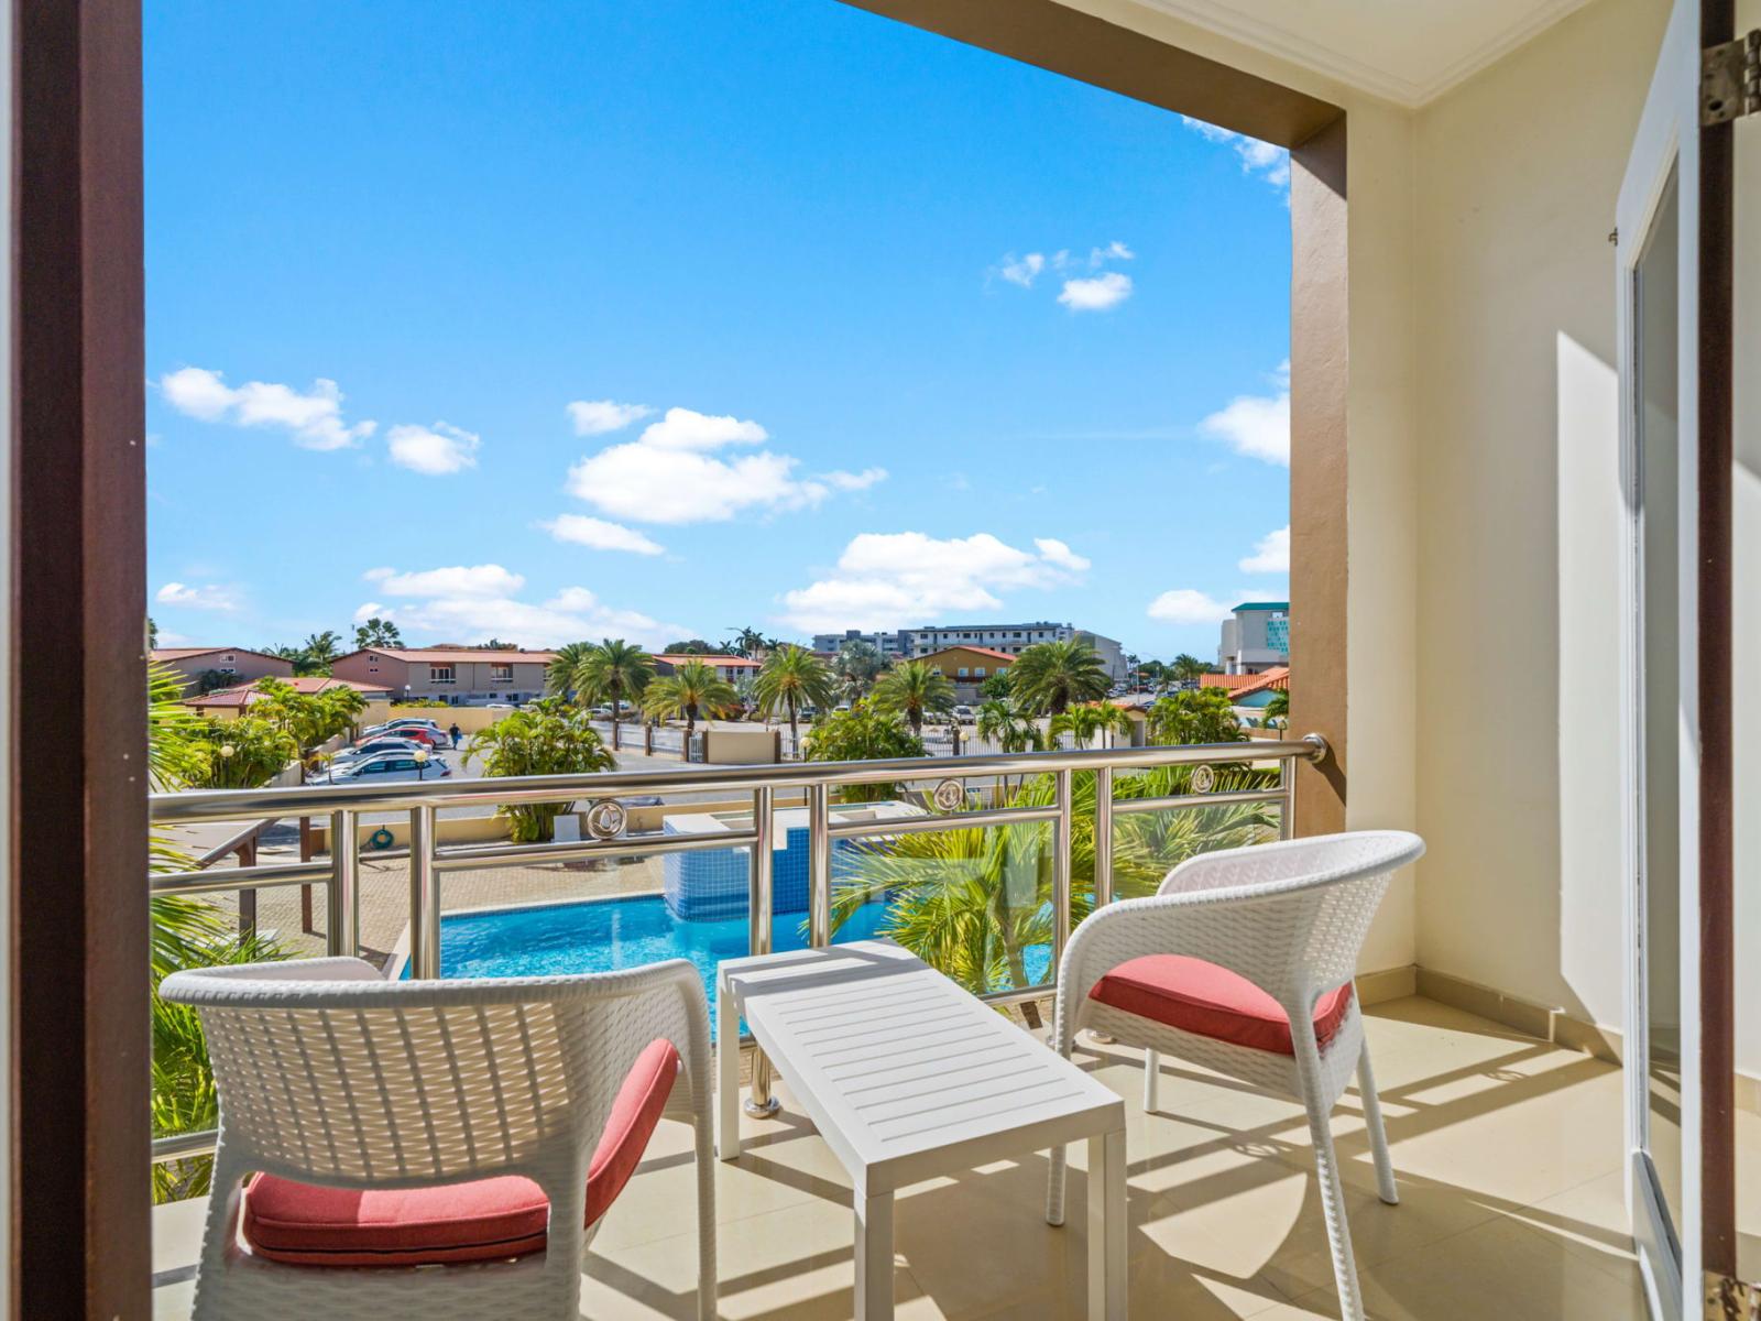
[(1349, 981), (1393, 874), (1425, 852), (1402, 830), (1363, 830), (1256, 844), (1189, 858), (1162, 881), (1178, 897), (1171, 925), (1212, 963), (1307, 1011)]

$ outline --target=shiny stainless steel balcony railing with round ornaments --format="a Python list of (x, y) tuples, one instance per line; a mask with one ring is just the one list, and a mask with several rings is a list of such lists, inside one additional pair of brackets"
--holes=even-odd
[[(951, 830), (1051, 824), (1051, 951), (1050, 979), (1034, 986), (990, 992), (984, 999), (1011, 1004), (1043, 999), (1055, 992), (1064, 944), (1072, 925), (1072, 786), (1078, 773), (1095, 779), (1094, 904), (1113, 900), (1113, 823), (1122, 814), (1206, 810), (1229, 805), (1275, 803), (1278, 835), (1291, 833), (1294, 807), (1294, 763), (1321, 761), (1326, 740), (1307, 734), (1296, 740), (1245, 743), (1199, 743), (1064, 752), (1021, 752), (965, 757), (903, 757), (888, 761), (784, 763), (773, 766), (701, 766), (666, 771), (602, 771), (593, 775), (530, 775), (481, 780), (431, 780), (400, 786), (298, 786), (275, 789), (210, 789), (153, 794), (151, 819), (158, 826), (261, 821), (266, 817), (328, 817), (331, 856), (324, 861), (261, 863), (224, 870), (164, 872), (150, 877), (155, 897), (255, 893), (276, 886), (321, 886), (326, 891), (326, 946), (331, 955), (354, 955), (359, 948), (357, 824), (366, 812), (409, 812), (409, 849), (380, 851), (375, 861), (402, 860), (409, 867), (409, 972), (440, 976), (440, 879), (449, 872), (484, 870), (534, 863), (648, 858), (699, 851), (748, 849), (748, 948), (770, 953), (775, 919), (777, 794), (794, 791), (807, 807), (808, 944), (833, 941), (833, 842), (886, 840)], [(1210, 791), (1212, 775), (1197, 768), (1271, 763), (1277, 784), (1252, 789)], [(1115, 798), (1116, 771), (1192, 766), (1190, 793), (1171, 796)], [(1046, 803), (998, 805), (1007, 794), (995, 786), (1050, 777)], [(990, 782), (990, 805), (977, 803), (965, 780)], [(935, 782), (925, 794), (930, 814), (877, 819), (836, 819), (833, 793), (845, 787)], [(625, 800), (637, 796), (703, 794), (720, 791), (750, 794), (752, 815), (745, 828), (708, 835), (625, 833)], [(1018, 794), (1020, 796), (1020, 794)], [(579, 840), (544, 844), (458, 844), (440, 845), (437, 815), (447, 808), (502, 807), (523, 803), (590, 801)], [(608, 807), (615, 805), (615, 807)], [(1101, 847), (1106, 844), (1106, 847)], [(768, 1101), (768, 1074), (754, 1080), (754, 1101)], [(213, 1148), (215, 1134), (185, 1133), (158, 1138), (155, 1161), (201, 1155)]]

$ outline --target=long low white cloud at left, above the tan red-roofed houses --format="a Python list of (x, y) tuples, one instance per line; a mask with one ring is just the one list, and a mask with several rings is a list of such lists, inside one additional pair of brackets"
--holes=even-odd
[(366, 602), (356, 611), (356, 618), (377, 613), (410, 636), (460, 643), (512, 638), (521, 646), (560, 646), (583, 638), (622, 636), (645, 646), (664, 646), (673, 638), (690, 634), (683, 625), (608, 606), (585, 587), (565, 587), (541, 602), (519, 601), (525, 578), (497, 564), (405, 574), (373, 572), (380, 574), (379, 581), (387, 585), (389, 594), (412, 601), (391, 609)]

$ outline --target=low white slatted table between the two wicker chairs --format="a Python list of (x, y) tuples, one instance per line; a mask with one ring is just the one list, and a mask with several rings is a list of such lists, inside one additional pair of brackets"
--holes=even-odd
[(1088, 1141), (1088, 1316), (1125, 1317), (1125, 1104), (889, 941), (720, 967), (718, 1150), (740, 1155), (740, 1020), (856, 1184), (856, 1317), (893, 1316), (893, 1194)]

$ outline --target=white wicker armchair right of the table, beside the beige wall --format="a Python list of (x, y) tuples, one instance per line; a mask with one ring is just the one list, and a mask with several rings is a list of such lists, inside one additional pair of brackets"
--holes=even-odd
[[(1122, 900), (1092, 912), (1071, 935), (1058, 967), (1053, 1044), (1067, 1057), (1076, 1034), (1087, 1027), (1120, 1044), (1143, 1048), (1145, 1111), (1157, 1106), (1159, 1053), (1178, 1055), (1303, 1103), (1340, 1309), (1354, 1321), (1363, 1319), (1363, 1298), (1328, 1122), (1354, 1066), (1375, 1155), (1377, 1191), (1389, 1205), (1400, 1198), (1358, 999), (1349, 990), (1342, 993), (1342, 988), (1356, 972), (1358, 951), (1391, 874), (1423, 852), (1425, 842), (1418, 835), (1356, 831), (1189, 858), (1168, 874), (1153, 898)], [(1289, 1044), (1238, 1044), (1213, 1036), (1213, 1025), (1206, 1032), (1183, 1030), (1094, 997), (1099, 990), (1108, 999), (1124, 999), (1113, 983), (1102, 983), (1131, 960), (1162, 956), (1162, 962), (1136, 967), (1166, 976), (1176, 967), (1166, 962), (1169, 955), (1203, 960), (1222, 969), (1224, 976), (1234, 974), (1264, 992), (1289, 1020)], [(1315, 1018), (1323, 997), (1328, 997), (1323, 1022), (1331, 1030), (1319, 1039)], [(1171, 1016), (1190, 1022), (1190, 1015)], [(1264, 1020), (1254, 1027), (1266, 1036)], [(1282, 1032), (1282, 1023), (1277, 1023), (1277, 1032)], [(1064, 1222), (1062, 1148), (1051, 1154), (1046, 1219)]]

